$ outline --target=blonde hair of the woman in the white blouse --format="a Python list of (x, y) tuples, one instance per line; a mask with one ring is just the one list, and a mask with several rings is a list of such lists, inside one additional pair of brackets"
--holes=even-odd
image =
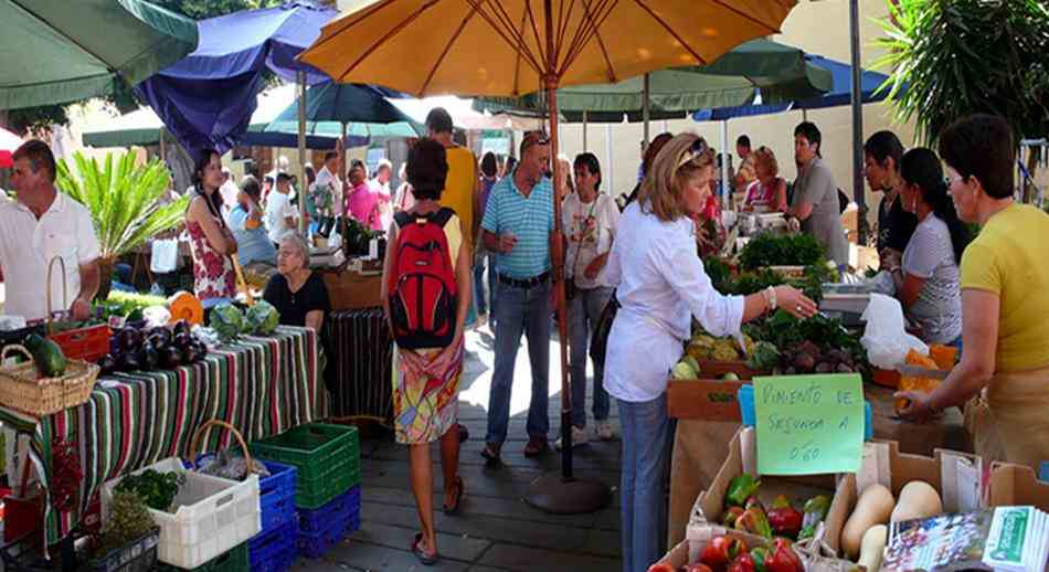
[[(703, 149), (681, 165), (692, 152), (692, 146), (702, 142)], [(707, 141), (695, 134), (681, 134), (667, 141), (656, 155), (651, 170), (645, 177), (637, 199), (640, 208), (651, 212), (660, 221), (670, 222), (688, 212), (685, 208), (685, 184), (696, 173), (713, 167), (714, 153)]]

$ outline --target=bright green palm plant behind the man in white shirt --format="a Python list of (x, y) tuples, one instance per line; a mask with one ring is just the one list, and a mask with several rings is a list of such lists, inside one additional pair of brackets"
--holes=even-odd
[(105, 161), (73, 155), (76, 171), (65, 159), (59, 161), (55, 183), (62, 192), (91, 211), (95, 234), (102, 251), (99, 262), (103, 280), (97, 298), (109, 295), (113, 265), (117, 258), (149, 239), (173, 229), (184, 221), (189, 197), (162, 203), (171, 176), (157, 159), (136, 165), (133, 153)]

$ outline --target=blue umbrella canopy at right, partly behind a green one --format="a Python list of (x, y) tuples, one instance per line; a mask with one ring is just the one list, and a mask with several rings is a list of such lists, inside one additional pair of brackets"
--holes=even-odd
[[(852, 66), (815, 54), (805, 54), (805, 61), (808, 62), (809, 65), (826, 70), (830, 74), (831, 86), (827, 93), (816, 97), (799, 98), (797, 100), (778, 104), (762, 103), (759, 105), (700, 109), (692, 115), (692, 118), (697, 121), (723, 121), (733, 117), (776, 114), (791, 109), (822, 109), (824, 107), (849, 105), (852, 100)], [(868, 104), (884, 99), (889, 95), (889, 89), (880, 89), (880, 87), (888, 81), (889, 76), (886, 74), (861, 70), (860, 100)], [(904, 86), (903, 88), (905, 89), (907, 87)], [(764, 99), (764, 96), (765, 93), (762, 91), (762, 99)], [(767, 99), (765, 99), (765, 102), (767, 102)]]

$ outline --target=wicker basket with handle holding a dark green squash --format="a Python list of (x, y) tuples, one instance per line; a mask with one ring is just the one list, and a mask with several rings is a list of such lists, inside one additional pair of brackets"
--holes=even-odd
[(22, 413), (43, 417), (67, 407), (75, 407), (91, 396), (99, 368), (83, 360), (68, 360), (61, 378), (42, 378), (33, 357), (24, 346), (11, 345), (0, 353), (0, 363), (12, 351), (29, 358), (28, 362), (0, 367), (0, 403)]

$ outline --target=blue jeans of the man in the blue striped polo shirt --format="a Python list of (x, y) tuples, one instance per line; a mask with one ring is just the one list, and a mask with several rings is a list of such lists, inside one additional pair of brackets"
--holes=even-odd
[(499, 304), (495, 313), (496, 368), (488, 396), (488, 435), (485, 441), (501, 445), (507, 438), (513, 363), (522, 332), (528, 338), (528, 360), (532, 370), (532, 399), (526, 428), (529, 437), (545, 437), (550, 432), (550, 280), (531, 288), (499, 284)]

